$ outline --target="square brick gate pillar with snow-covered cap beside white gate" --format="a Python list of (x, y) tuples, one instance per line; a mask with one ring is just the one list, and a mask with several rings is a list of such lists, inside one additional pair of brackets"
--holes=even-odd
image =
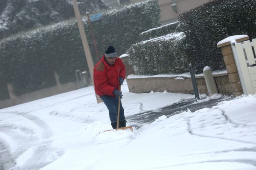
[[(245, 40), (249, 40), (249, 37), (239, 38), (235, 40), (236, 42), (242, 42)], [(240, 96), (243, 94), (243, 90), (242, 90), (241, 82), (239, 79), (238, 71), (236, 68), (236, 62), (234, 59), (229, 37), (227, 37), (224, 40), (221, 40), (218, 43), (217, 47), (221, 48), (221, 52), (227, 68), (227, 75), (232, 88), (232, 93), (234, 96)]]

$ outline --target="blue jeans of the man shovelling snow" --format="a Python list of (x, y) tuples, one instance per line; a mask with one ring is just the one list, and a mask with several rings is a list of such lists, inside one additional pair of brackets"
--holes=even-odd
[[(117, 122), (117, 110), (118, 110), (118, 98), (111, 96), (100, 96), (109, 111), (109, 118), (111, 123)], [(120, 117), (119, 121), (125, 120), (124, 108), (122, 107), (122, 102), (120, 101)]]

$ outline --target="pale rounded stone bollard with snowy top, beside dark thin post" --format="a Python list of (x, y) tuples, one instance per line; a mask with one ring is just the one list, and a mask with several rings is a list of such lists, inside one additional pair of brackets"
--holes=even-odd
[(212, 76), (212, 69), (209, 66), (206, 66), (203, 70), (203, 73), (209, 96), (218, 94), (217, 86)]

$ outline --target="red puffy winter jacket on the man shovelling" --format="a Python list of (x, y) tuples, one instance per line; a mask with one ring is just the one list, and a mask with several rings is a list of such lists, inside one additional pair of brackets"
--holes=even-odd
[(115, 96), (113, 91), (119, 90), (119, 77), (125, 79), (125, 65), (116, 57), (113, 65), (105, 61), (105, 54), (93, 69), (93, 81), (96, 94), (99, 96)]

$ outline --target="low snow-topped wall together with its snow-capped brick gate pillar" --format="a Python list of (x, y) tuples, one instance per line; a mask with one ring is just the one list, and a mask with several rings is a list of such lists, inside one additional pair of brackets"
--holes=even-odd
[[(218, 92), (223, 95), (239, 96), (243, 94), (239, 74), (236, 68), (236, 62), (233, 56), (230, 40), (234, 39), (236, 42), (243, 42), (248, 40), (248, 36), (242, 37), (227, 37), (218, 42), (217, 47), (221, 48), (224, 62), (227, 68), (225, 74), (213, 75)], [(173, 93), (193, 94), (192, 82), (190, 77), (128, 77), (127, 83), (130, 92), (133, 93), (148, 93), (150, 91), (168, 91)], [(199, 94), (208, 94), (207, 85), (204, 76), (196, 76)]]

